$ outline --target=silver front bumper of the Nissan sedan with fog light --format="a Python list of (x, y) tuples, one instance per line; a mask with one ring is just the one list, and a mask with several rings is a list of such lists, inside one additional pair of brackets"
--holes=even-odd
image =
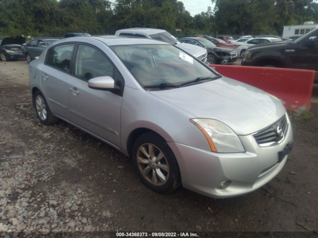
[[(180, 168), (183, 187), (203, 195), (226, 198), (245, 194), (263, 186), (284, 167), (288, 155), (279, 152), (293, 141), (290, 120), (285, 139), (278, 145), (260, 147), (252, 135), (239, 136), (245, 153), (214, 153), (169, 142)], [(223, 181), (231, 181), (225, 189)]]

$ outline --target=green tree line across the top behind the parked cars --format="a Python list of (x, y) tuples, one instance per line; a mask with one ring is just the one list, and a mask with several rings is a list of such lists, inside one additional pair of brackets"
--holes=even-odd
[(0, 35), (112, 34), (129, 27), (174, 34), (281, 34), (284, 25), (304, 21), (318, 22), (317, 1), (211, 0), (211, 7), (191, 16), (180, 0), (0, 0)]

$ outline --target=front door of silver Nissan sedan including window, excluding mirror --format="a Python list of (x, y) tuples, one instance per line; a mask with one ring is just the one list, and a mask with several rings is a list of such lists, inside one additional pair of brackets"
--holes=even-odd
[(103, 52), (91, 45), (79, 44), (69, 89), (73, 121), (120, 148), (122, 96), (116, 92), (89, 88), (88, 80), (100, 76), (110, 76), (115, 82), (123, 80)]

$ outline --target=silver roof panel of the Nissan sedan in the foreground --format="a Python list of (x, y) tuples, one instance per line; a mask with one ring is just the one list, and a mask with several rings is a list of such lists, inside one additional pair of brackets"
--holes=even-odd
[[(128, 37), (120, 37), (120, 36), (78, 36), (78, 37), (71, 37), (71, 38), (64, 38), (59, 41), (59, 43), (63, 42), (74, 42), (74, 41), (81, 41), (81, 40), (92, 39), (97, 40), (104, 43), (107, 46), (120, 46), (120, 45), (170, 45), (163, 41), (157, 41), (153, 39), (147, 38), (128, 38)], [(84, 41), (85, 41), (84, 40)], [(58, 43), (58, 44), (59, 44)]]

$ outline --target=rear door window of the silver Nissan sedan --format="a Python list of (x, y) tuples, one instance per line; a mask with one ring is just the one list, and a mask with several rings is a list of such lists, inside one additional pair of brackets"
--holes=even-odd
[(71, 58), (74, 44), (59, 45), (51, 49), (47, 64), (66, 72), (71, 70)]

